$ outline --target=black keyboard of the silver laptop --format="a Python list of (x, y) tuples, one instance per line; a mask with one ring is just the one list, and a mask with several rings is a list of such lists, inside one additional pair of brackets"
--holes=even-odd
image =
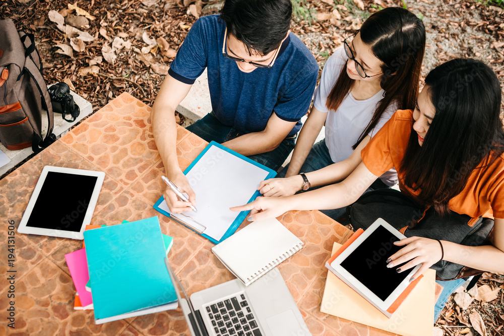
[(262, 336), (243, 294), (206, 307), (217, 336)]

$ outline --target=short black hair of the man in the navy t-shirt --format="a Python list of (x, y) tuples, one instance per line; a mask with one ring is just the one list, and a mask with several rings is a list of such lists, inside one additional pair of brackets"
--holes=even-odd
[(287, 36), (292, 16), (291, 0), (226, 0), (221, 18), (250, 55), (266, 55)]

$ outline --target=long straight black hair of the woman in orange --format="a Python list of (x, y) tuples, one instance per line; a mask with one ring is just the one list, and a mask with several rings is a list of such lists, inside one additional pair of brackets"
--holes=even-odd
[(422, 146), (411, 131), (401, 170), (421, 203), (443, 215), (472, 171), (504, 153), (500, 85), (483, 62), (458, 58), (432, 70), (423, 90), (436, 112)]

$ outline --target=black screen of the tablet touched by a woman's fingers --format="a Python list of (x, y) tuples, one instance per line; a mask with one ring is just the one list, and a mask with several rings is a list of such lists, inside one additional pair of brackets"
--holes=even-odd
[(380, 225), (341, 262), (341, 267), (385, 301), (409, 274), (397, 273), (397, 267), (387, 268), (387, 259), (403, 247), (393, 244), (398, 240)]

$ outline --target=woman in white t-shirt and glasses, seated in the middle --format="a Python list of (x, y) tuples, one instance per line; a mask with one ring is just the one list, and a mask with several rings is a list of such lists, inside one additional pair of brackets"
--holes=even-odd
[[(286, 178), (263, 181), (264, 196), (292, 195), (343, 180), (392, 114), (414, 107), (425, 49), (422, 20), (405, 9), (387, 8), (371, 15), (343, 44), (324, 66), (290, 164), (279, 174)], [(324, 124), (325, 139), (313, 146)], [(370, 189), (396, 183), (392, 169)], [(337, 220), (345, 209), (325, 213)]]

